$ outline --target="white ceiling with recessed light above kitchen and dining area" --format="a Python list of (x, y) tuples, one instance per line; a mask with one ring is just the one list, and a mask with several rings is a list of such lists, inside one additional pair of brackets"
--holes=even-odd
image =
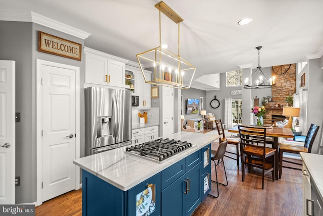
[[(159, 45), (159, 0), (1, 0), (2, 10), (32, 11), (91, 35), (85, 46), (136, 62)], [(304, 62), (323, 54), (322, 0), (165, 0), (184, 21), (180, 55), (196, 67), (194, 78)], [(240, 19), (253, 21), (239, 26)], [(161, 14), (161, 43), (178, 52), (178, 25)], [(200, 82), (191, 87), (210, 90)]]

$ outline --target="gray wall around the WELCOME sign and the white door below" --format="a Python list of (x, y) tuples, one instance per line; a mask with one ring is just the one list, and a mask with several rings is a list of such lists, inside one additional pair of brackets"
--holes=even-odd
[[(83, 56), (80, 62), (38, 52), (38, 30), (81, 43), (82, 47), (84, 44), (80, 38), (38, 24), (0, 21), (0, 59), (16, 62), (16, 112), (21, 113), (21, 122), (16, 123), (16, 176), (21, 180), (16, 187), (16, 203), (36, 201), (36, 59), (80, 67), (80, 89), (84, 86)], [(80, 97), (80, 128), (84, 134), (82, 90)], [(84, 137), (80, 140), (84, 149)]]

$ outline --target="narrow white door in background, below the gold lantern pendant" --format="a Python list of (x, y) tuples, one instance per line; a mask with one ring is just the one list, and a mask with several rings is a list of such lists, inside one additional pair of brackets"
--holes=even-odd
[(174, 133), (174, 88), (163, 86), (163, 136)]

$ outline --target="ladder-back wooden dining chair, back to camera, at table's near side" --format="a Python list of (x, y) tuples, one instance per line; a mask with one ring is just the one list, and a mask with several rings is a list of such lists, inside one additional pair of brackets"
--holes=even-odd
[[(266, 147), (266, 128), (238, 125), (241, 149), (242, 181), (245, 179), (245, 165), (249, 173), (251, 167), (262, 169), (262, 184), (264, 175), (272, 172), (272, 179), (275, 181), (275, 152), (276, 149)], [(271, 159), (271, 160), (268, 160)]]

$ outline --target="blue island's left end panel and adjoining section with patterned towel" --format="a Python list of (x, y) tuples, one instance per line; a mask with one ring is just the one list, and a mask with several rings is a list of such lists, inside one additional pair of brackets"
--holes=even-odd
[(82, 215), (160, 215), (160, 173), (128, 191), (82, 172)]

